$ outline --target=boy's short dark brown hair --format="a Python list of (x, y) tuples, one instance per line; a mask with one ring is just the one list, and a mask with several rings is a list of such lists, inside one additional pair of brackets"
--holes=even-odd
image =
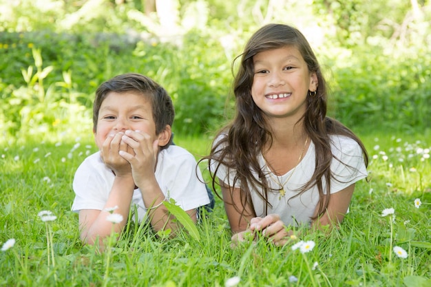
[[(96, 90), (93, 103), (93, 129), (96, 131), (98, 111), (109, 92), (137, 92), (151, 100), (153, 120), (156, 123), (156, 134), (160, 134), (166, 125), (174, 123), (175, 110), (172, 99), (166, 90), (147, 76), (137, 73), (127, 73), (114, 76), (102, 83)], [(165, 147), (172, 143), (172, 136)], [(164, 148), (164, 147), (162, 147)]]

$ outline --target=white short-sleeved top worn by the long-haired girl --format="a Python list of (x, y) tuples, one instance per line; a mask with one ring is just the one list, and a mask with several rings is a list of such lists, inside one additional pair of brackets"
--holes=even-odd
[[(366, 178), (367, 171), (362, 156), (362, 150), (357, 142), (351, 138), (345, 136), (330, 136), (331, 138), (331, 150), (335, 158), (341, 160), (339, 162), (333, 158), (330, 169), (333, 172), (334, 178), (330, 180), (330, 193), (337, 193), (342, 189), (350, 186), (351, 184)], [(270, 171), (266, 167), (262, 153), (257, 156), (260, 167), (263, 168), (264, 172), (268, 174), (266, 180), (268, 180), (270, 186), (275, 189), (269, 191), (268, 200), (272, 206), (268, 206), (267, 214), (276, 213), (280, 215), (281, 220), (286, 225), (297, 226), (300, 224), (309, 224), (311, 217), (313, 217), (317, 202), (319, 201), (319, 191), (317, 186), (314, 185), (311, 189), (305, 191), (301, 195), (293, 198), (297, 195), (300, 187), (302, 187), (308, 180), (311, 179), (315, 171), (315, 145), (310, 142), (310, 147), (306, 152), (304, 158), (297, 165), (296, 169), (291, 169), (283, 176), (279, 176), (278, 180), (284, 182), (289, 176), (291, 178), (284, 185), (286, 194), (280, 197), (280, 183), (275, 181), (275, 175), (269, 175)], [(214, 173), (218, 162), (211, 162), (211, 172)], [(293, 172), (293, 175), (291, 173)], [(257, 178), (257, 173), (253, 171), (253, 175)], [(222, 180), (225, 184), (232, 186), (233, 176), (235, 171), (230, 170), (229, 175), (227, 174), (227, 168), (220, 165), (216, 176)], [(326, 180), (322, 179), (323, 189), (326, 189)], [(241, 182), (237, 180), (235, 187), (240, 187)], [(249, 184), (249, 187), (251, 185)], [(255, 209), (256, 216), (264, 217), (264, 206), (265, 202), (262, 200), (260, 195), (255, 189), (251, 190), (251, 200)], [(290, 199), (290, 200), (289, 200)]]

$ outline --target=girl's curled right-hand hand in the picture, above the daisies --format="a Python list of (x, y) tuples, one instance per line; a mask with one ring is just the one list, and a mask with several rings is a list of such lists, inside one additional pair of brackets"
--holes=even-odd
[(250, 230), (253, 233), (261, 232), (269, 242), (275, 246), (282, 246), (290, 240), (293, 231), (287, 231), (280, 215), (269, 214), (265, 217), (253, 217), (250, 221)]

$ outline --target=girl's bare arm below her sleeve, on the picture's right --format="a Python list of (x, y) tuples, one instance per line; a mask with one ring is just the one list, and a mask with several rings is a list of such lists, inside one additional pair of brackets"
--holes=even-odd
[[(352, 199), (353, 191), (355, 191), (355, 184), (332, 193), (330, 195), (330, 200), (326, 212), (317, 220), (311, 223), (311, 226), (316, 228), (321, 228), (322, 226), (337, 226), (344, 219), (344, 215), (347, 213), (350, 200)], [(315, 215), (317, 215), (318, 207), (315, 210)]]

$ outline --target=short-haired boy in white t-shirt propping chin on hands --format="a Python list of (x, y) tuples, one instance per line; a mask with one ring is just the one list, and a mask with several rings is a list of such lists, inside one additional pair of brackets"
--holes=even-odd
[[(148, 213), (157, 232), (178, 229), (164, 200), (174, 198), (194, 222), (198, 207), (209, 204), (196, 160), (172, 145), (174, 114), (165, 89), (146, 76), (122, 74), (98, 87), (93, 133), (99, 151), (78, 167), (73, 182), (72, 211), (79, 213), (83, 242), (103, 246), (112, 224), (123, 230), (134, 205), (138, 220)], [(109, 222), (109, 212), (123, 220)]]

